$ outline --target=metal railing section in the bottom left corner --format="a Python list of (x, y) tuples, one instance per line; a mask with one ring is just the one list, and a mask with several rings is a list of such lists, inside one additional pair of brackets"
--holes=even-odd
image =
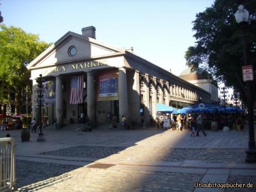
[(15, 186), (15, 142), (0, 138), (0, 191), (12, 191)]

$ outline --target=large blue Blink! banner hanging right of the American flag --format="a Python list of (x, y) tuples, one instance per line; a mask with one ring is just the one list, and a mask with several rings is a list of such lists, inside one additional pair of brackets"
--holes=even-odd
[(118, 70), (108, 70), (98, 76), (98, 101), (118, 100)]

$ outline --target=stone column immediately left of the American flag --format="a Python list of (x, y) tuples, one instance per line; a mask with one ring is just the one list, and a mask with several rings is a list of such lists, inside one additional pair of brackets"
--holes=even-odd
[(55, 99), (55, 117), (57, 118), (57, 127), (63, 126), (63, 93), (62, 93), (62, 77), (56, 77), (56, 99)]

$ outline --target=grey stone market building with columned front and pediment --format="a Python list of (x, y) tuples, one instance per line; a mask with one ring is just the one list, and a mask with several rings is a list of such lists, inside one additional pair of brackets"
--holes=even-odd
[(135, 55), (133, 49), (119, 49), (95, 39), (95, 28), (82, 35), (69, 31), (46, 49), (27, 68), (33, 80), (33, 118), (38, 119), (36, 78), (45, 83), (46, 116), (62, 126), (88, 115), (92, 122), (106, 123), (113, 116), (120, 121), (146, 124), (156, 119), (157, 103), (181, 108), (211, 94)]

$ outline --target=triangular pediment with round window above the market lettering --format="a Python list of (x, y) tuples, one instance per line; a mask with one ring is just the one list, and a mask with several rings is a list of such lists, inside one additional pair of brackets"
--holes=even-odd
[[(75, 47), (75, 55), (69, 54), (70, 47)], [(34, 59), (27, 68), (34, 69), (83, 59), (103, 58), (118, 53), (124, 53), (124, 50), (69, 31)]]

